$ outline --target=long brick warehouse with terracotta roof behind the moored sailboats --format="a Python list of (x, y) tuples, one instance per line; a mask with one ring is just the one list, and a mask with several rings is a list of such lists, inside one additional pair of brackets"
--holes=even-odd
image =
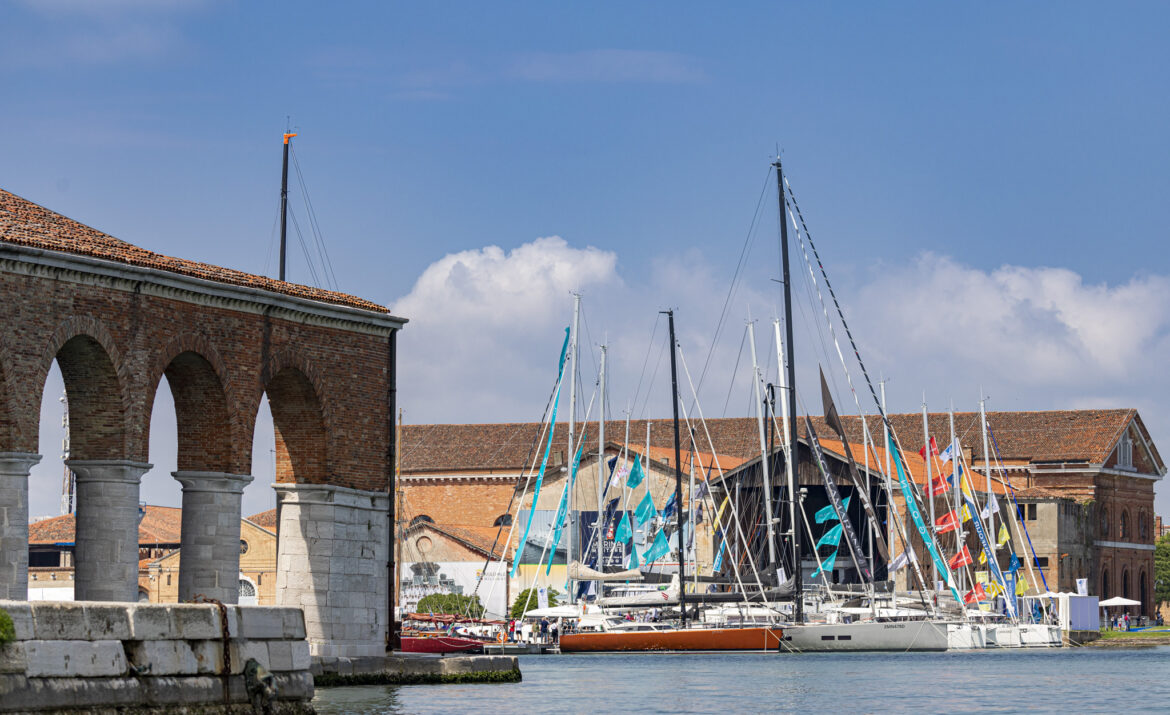
[[(956, 413), (954, 419), (976, 489), (985, 490), (980, 489), (985, 475), (978, 413)], [(949, 440), (949, 420), (944, 413), (929, 415), (930, 432), (940, 444)], [(846, 417), (842, 421), (860, 460), (861, 420)], [(830, 434), (824, 420), (814, 418), (813, 422), (821, 438)], [(998, 456), (1005, 470), (992, 468), (992, 491), (1003, 500), (1014, 489), (1037, 552), (1033, 566), (1042, 571), (1048, 586), (1075, 590), (1076, 579), (1085, 578), (1090, 594), (1135, 598), (1143, 603), (1143, 613), (1152, 614), (1154, 486), (1165, 474), (1165, 466), (1137, 412), (989, 412), (987, 422), (992, 434), (989, 460), (994, 465)], [(922, 445), (922, 415), (894, 414), (890, 424), (907, 452), (911, 477), (925, 483), (925, 465), (914, 453)], [(878, 418), (869, 418), (868, 427), (881, 439)], [(596, 434), (597, 425), (589, 422), (581, 428)], [(624, 434), (625, 428), (625, 422), (613, 421), (606, 432)], [(715, 419), (708, 420), (707, 428), (720, 455), (741, 462), (758, 458), (756, 420)], [(539, 429), (536, 424), (404, 427), (404, 503), (412, 514), (441, 515), (436, 523), (468, 523), (490, 530), (507, 513), (519, 479), (532, 463)], [(564, 434), (563, 425), (557, 429)], [(672, 446), (669, 421), (631, 424), (631, 434), (638, 435), (639, 444), (645, 442), (647, 429), (652, 448)], [(804, 435), (803, 428), (800, 432)], [(700, 446), (704, 445), (702, 438)], [(831, 453), (842, 451), (831, 440), (825, 440), (825, 446)], [(564, 468), (565, 452), (555, 445), (550, 462)], [(596, 496), (592, 502), (587, 495), (583, 499), (586, 504), (596, 503)], [(546, 506), (542, 494), (542, 506)], [(900, 503), (900, 497), (895, 501)], [(900, 506), (904, 516), (904, 504)], [(511, 508), (515, 511), (515, 504)], [(1026, 558), (1027, 552), (1020, 556)]]

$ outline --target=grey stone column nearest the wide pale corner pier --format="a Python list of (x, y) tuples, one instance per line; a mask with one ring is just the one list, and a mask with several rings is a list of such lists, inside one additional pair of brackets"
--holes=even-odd
[(240, 500), (247, 474), (172, 472), (183, 484), (179, 600), (240, 599)]

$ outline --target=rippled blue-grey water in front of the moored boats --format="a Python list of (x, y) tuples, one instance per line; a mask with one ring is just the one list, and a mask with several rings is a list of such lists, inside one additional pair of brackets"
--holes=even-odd
[(525, 655), (524, 682), (323, 688), (350, 713), (1170, 710), (1170, 646), (955, 653)]

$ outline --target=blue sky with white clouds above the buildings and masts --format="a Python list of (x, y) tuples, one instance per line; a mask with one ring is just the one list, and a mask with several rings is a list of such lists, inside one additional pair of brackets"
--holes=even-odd
[[(407, 420), (521, 420), (571, 288), (614, 410), (656, 310), (702, 362), (779, 145), (893, 408), (971, 410), (980, 385), (989, 408), (1136, 406), (1165, 448), (1170, 11), (629, 5), (6, 4), (0, 185), (271, 274), (290, 117), (343, 289), (413, 321)], [(778, 305), (768, 198), (709, 415), (748, 410), (743, 321)], [(827, 364), (806, 330), (801, 366)], [(144, 491), (177, 500), (168, 480)]]

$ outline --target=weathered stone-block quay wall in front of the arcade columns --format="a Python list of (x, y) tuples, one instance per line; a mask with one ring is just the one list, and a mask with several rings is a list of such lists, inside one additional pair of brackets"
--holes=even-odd
[(0, 713), (312, 711), (300, 609), (0, 600), (0, 610), (15, 631), (0, 646)]

